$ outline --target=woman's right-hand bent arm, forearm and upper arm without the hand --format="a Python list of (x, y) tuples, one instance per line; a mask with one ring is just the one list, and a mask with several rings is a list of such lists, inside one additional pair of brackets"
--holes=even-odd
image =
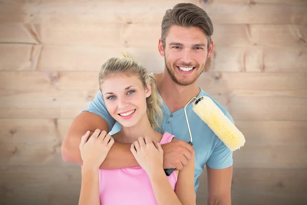
[(178, 175), (175, 192), (172, 190), (163, 169), (149, 175), (151, 186), (158, 204), (196, 204), (194, 188), (194, 153)]

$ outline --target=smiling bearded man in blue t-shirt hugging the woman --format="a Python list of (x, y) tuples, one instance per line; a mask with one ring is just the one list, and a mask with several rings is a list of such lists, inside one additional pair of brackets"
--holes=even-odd
[[(164, 168), (181, 170), (195, 152), (195, 193), (199, 187), (198, 177), (204, 166), (208, 174), (208, 204), (231, 204), (232, 152), (192, 110), (187, 107), (193, 148), (187, 144), (184, 106), (192, 97), (207, 95), (196, 86), (206, 60), (211, 56), (213, 26), (206, 12), (193, 4), (178, 4), (167, 10), (162, 20), (162, 36), (159, 52), (165, 60), (163, 73), (155, 74), (158, 91), (163, 99), (164, 131), (176, 136), (172, 142), (162, 145)], [(208, 95), (207, 95), (208, 96)], [(209, 96), (210, 97), (210, 96)], [(229, 113), (212, 99), (232, 120)], [(87, 130), (105, 130), (111, 134), (120, 130), (119, 124), (109, 115), (98, 92), (91, 105), (73, 121), (62, 144), (65, 161), (82, 164), (79, 152), (81, 136)], [(115, 143), (101, 169), (119, 169), (139, 166), (130, 152), (130, 145)]]

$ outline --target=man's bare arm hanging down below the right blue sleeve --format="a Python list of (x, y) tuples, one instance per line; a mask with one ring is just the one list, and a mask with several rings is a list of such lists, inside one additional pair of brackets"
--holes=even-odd
[(207, 166), (208, 205), (231, 204), (232, 166), (225, 169), (212, 169)]

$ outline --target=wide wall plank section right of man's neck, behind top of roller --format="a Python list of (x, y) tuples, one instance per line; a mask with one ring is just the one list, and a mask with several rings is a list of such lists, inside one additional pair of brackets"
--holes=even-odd
[[(248, 75), (207, 73), (201, 75), (198, 85), (236, 120), (307, 119), (306, 75), (292, 73), (293, 81), (288, 73), (253, 73), (253, 78)], [(282, 75), (284, 78), (276, 80)]]

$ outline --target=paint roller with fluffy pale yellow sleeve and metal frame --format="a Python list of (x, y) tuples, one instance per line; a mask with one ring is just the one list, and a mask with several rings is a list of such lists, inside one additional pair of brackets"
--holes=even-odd
[[(222, 112), (220, 108), (208, 96), (200, 98), (192, 97), (184, 107), (184, 113), (189, 130), (191, 146), (192, 135), (190, 131), (189, 121), (186, 113), (186, 107), (195, 99), (193, 103), (193, 111), (208, 125), (214, 134), (220, 138), (224, 144), (231, 150), (235, 151), (243, 147), (245, 144), (245, 137), (232, 121)], [(175, 169), (164, 169), (164, 172), (169, 176)]]

